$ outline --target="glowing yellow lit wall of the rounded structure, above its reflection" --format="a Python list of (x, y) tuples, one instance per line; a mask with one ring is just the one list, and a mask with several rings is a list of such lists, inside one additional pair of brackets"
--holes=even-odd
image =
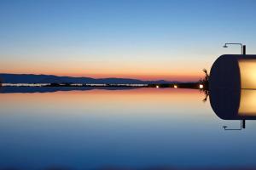
[(256, 89), (256, 59), (240, 59), (238, 64), (241, 75), (241, 88)]

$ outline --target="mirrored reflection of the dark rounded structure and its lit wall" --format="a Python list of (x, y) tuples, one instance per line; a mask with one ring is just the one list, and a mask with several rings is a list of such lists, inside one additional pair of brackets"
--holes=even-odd
[(256, 120), (256, 90), (212, 89), (210, 103), (224, 120)]

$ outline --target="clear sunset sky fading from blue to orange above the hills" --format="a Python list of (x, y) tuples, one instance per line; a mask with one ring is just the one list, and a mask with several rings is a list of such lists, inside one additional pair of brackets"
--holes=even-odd
[(253, 0), (0, 0), (0, 72), (197, 81), (256, 54)]

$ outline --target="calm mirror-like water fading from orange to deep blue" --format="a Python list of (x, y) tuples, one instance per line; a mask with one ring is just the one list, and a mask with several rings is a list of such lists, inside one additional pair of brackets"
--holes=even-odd
[(0, 167), (255, 167), (243, 131), (197, 90), (138, 88), (0, 94)]

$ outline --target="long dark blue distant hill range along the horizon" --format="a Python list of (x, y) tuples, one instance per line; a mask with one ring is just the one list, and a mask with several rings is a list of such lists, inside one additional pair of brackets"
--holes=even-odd
[(3, 83), (108, 83), (108, 84), (164, 84), (176, 83), (165, 80), (142, 81), (131, 78), (90, 78), (90, 77), (57, 77), (53, 75), (33, 75), (33, 74), (6, 74), (0, 73)]

